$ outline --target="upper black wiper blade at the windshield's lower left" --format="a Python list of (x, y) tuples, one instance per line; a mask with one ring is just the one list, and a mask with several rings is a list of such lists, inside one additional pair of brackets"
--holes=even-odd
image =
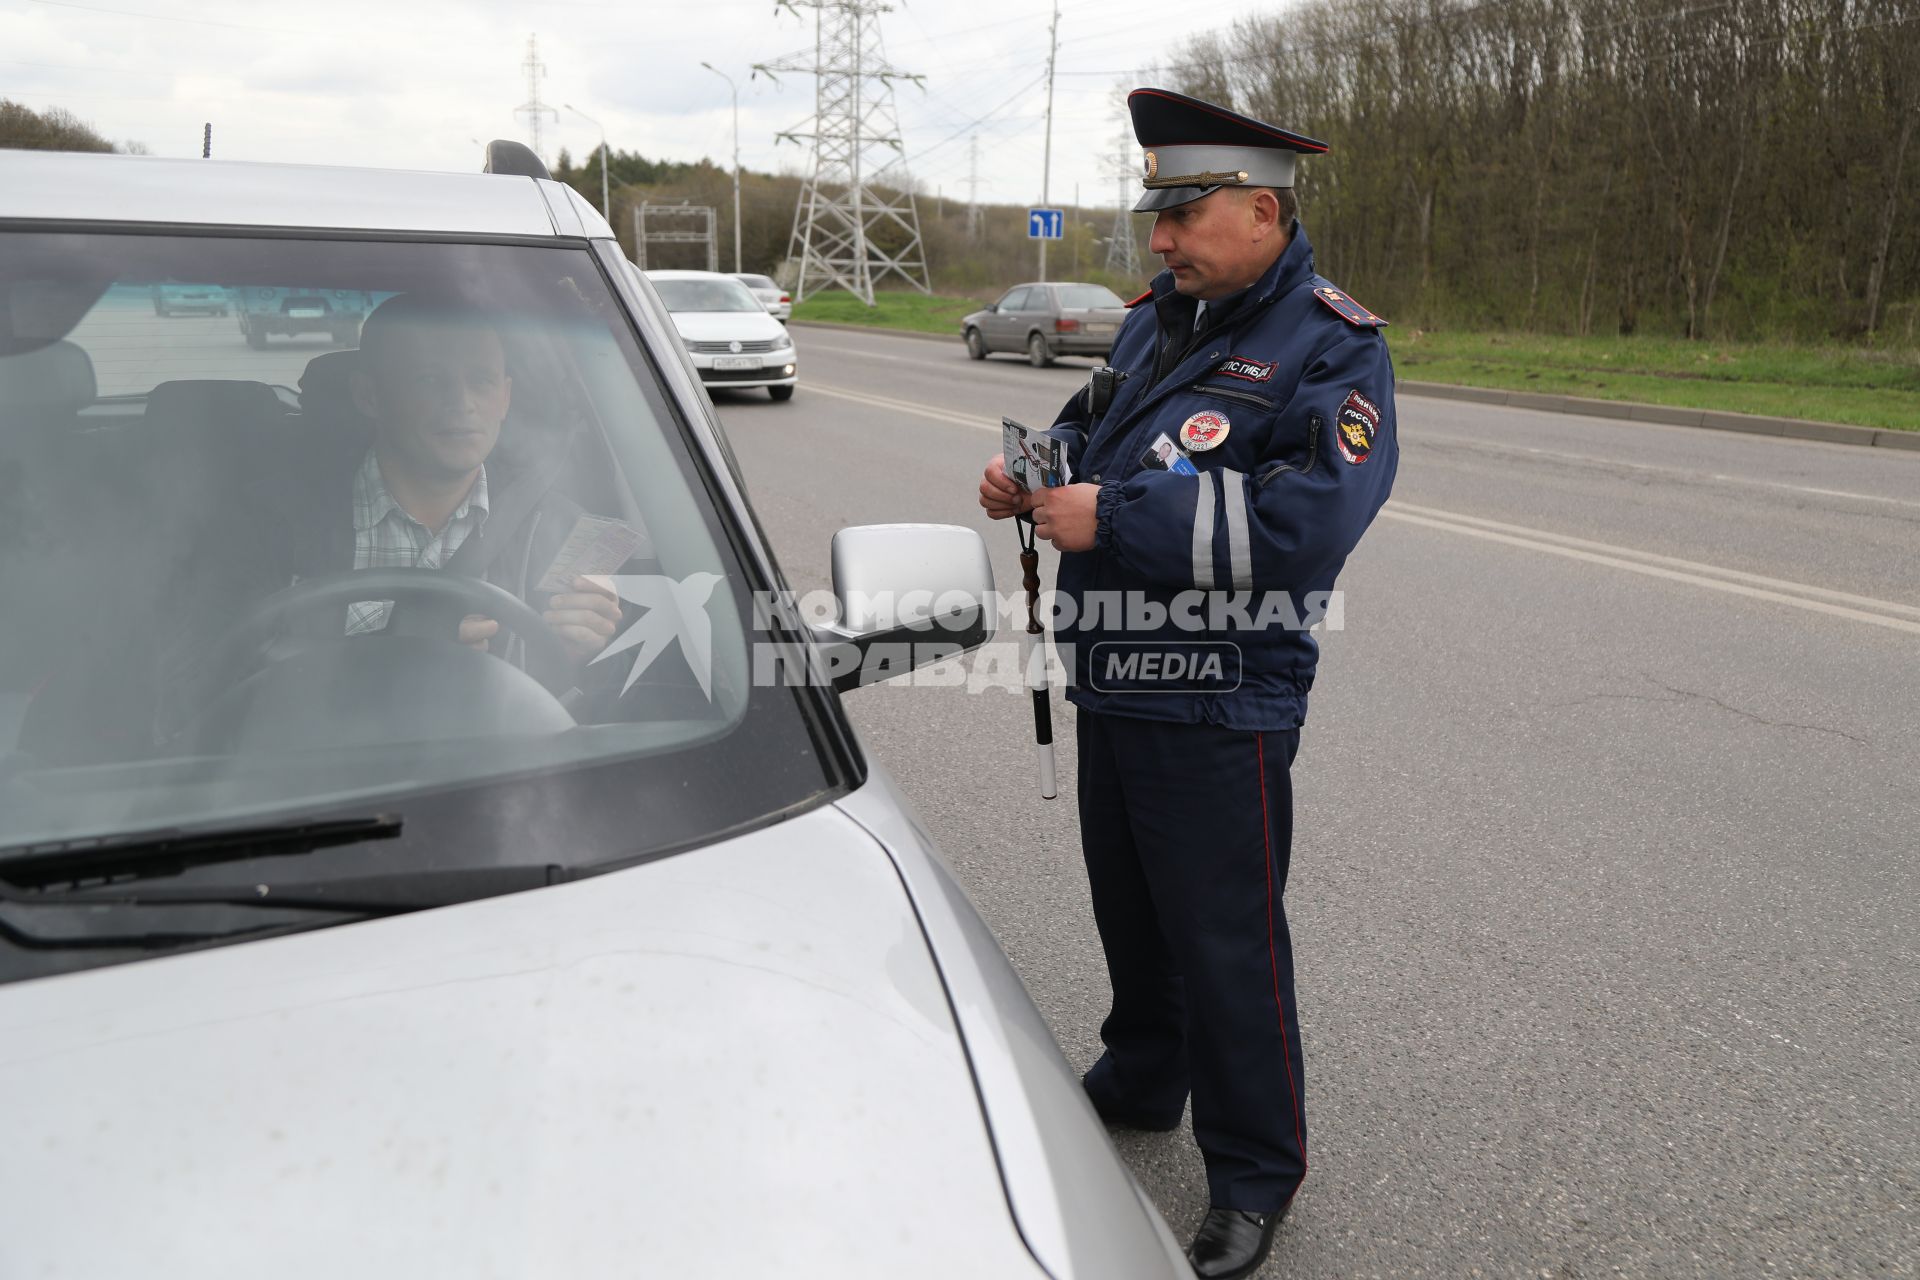
[(397, 814), (365, 818), (298, 818), (252, 827), (165, 827), (79, 841), (0, 844), (0, 879), (13, 885), (54, 885), (123, 875), (177, 875), (215, 862), (246, 862), (305, 854), (315, 848), (392, 841)]

